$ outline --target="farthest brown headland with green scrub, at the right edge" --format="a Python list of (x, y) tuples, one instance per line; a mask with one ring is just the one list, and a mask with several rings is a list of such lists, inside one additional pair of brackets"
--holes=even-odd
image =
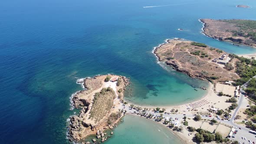
[(200, 19), (205, 35), (221, 41), (256, 47), (255, 20)]

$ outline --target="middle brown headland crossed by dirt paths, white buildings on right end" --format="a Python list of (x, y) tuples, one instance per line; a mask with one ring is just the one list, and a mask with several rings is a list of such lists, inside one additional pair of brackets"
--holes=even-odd
[(154, 50), (159, 61), (173, 66), (190, 77), (226, 81), (239, 79), (235, 72), (236, 58), (203, 43), (168, 39)]

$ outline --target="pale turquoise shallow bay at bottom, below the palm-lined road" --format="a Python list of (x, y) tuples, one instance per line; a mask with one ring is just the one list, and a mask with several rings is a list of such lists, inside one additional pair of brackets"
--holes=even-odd
[(126, 115), (113, 132), (106, 144), (182, 144), (165, 126), (134, 115)]

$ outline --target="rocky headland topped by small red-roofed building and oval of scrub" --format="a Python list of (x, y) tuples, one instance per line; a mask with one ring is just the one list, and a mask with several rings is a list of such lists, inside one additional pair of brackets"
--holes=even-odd
[[(113, 129), (124, 115), (123, 111), (118, 110), (118, 106), (121, 105), (120, 101), (129, 81), (124, 76), (98, 75), (80, 80), (79, 83), (85, 90), (76, 92), (71, 98), (72, 105), (81, 111), (79, 115), (70, 117), (69, 140), (81, 142), (87, 136), (96, 134), (95, 138), (104, 142), (109, 136), (103, 131)], [(96, 139), (92, 141), (95, 142)]]

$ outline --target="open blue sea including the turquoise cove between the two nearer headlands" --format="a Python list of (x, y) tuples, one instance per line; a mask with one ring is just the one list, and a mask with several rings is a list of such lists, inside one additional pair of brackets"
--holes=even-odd
[[(144, 8), (163, 5), (169, 6)], [(159, 64), (151, 52), (155, 46), (179, 37), (236, 54), (256, 49), (204, 36), (200, 18), (256, 20), (256, 1), (1, 1), (0, 143), (68, 143), (66, 120), (74, 112), (69, 97), (81, 90), (78, 78), (130, 77), (132, 91), (126, 99), (140, 105), (175, 105), (202, 97), (205, 92), (194, 88), (207, 82)]]

